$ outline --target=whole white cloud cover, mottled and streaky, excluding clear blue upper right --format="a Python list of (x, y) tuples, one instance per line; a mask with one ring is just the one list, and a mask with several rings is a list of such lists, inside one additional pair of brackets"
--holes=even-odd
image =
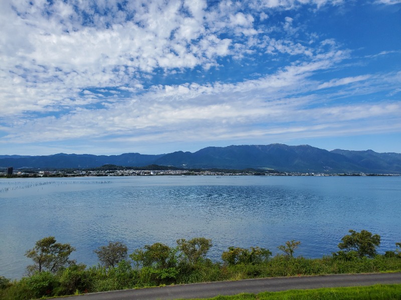
[[(0, 143), (245, 139), (401, 122), (400, 73), (331, 74), (351, 51), (293, 13), (342, 0), (54, 3), (0, 1)], [(398, 54), (377, 56), (389, 53)], [(261, 75), (241, 78), (227, 61)], [(192, 70), (207, 79), (192, 81)], [(394, 98), (350, 104), (377, 91)]]

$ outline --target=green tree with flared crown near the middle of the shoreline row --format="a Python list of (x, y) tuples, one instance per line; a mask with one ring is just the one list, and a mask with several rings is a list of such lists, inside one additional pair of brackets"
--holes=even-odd
[(181, 251), (189, 264), (195, 264), (199, 259), (204, 259), (209, 249), (213, 246), (212, 239), (194, 237), (186, 240), (177, 239), (178, 250)]

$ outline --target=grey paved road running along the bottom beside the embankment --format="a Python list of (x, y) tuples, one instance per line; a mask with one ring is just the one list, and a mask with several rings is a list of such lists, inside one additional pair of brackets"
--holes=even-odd
[(401, 283), (399, 273), (376, 274), (341, 274), (305, 277), (279, 277), (264, 279), (247, 279), (238, 281), (220, 281), (194, 283), (164, 287), (127, 289), (108, 292), (97, 292), (71, 296), (68, 300), (124, 300), (124, 299), (177, 299), (177, 298), (210, 298), (217, 295), (234, 295), (241, 292), (258, 293), (261, 291), (279, 291), (287, 289), (306, 289), (336, 286), (372, 285), (376, 283)]

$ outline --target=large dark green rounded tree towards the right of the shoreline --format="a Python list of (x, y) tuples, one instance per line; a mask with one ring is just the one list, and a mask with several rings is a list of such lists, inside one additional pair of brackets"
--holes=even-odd
[(346, 253), (355, 251), (359, 257), (376, 255), (376, 247), (380, 245), (380, 235), (373, 234), (367, 230), (356, 232), (355, 230), (348, 230), (349, 233), (341, 238), (338, 247)]

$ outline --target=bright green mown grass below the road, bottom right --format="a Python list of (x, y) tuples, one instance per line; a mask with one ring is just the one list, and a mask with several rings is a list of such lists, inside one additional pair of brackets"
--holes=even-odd
[[(258, 294), (241, 293), (233, 296), (217, 296), (209, 300), (398, 300), (401, 284), (376, 284), (357, 287), (331, 287), (294, 289)], [(192, 299), (195, 300), (195, 299)], [(200, 300), (200, 299), (196, 299)], [(203, 299), (205, 300), (205, 299)]]

